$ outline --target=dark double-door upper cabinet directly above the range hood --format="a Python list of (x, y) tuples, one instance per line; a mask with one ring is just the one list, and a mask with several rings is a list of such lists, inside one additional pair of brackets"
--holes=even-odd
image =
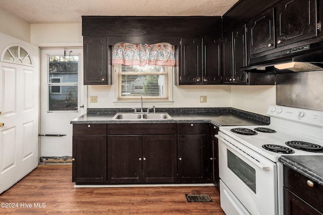
[(319, 40), (312, 39), (318, 29), (316, 0), (279, 1), (248, 21), (248, 64), (265, 61), (264, 55), (314, 43)]

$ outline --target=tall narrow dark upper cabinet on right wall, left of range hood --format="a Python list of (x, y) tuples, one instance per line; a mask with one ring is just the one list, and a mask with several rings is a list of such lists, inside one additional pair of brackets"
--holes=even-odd
[(247, 73), (240, 71), (245, 65), (246, 34), (242, 25), (223, 37), (223, 83), (247, 83)]

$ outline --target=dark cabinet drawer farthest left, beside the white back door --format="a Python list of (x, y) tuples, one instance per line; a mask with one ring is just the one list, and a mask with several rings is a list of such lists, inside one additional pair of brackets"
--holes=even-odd
[(106, 124), (73, 124), (73, 135), (106, 135)]

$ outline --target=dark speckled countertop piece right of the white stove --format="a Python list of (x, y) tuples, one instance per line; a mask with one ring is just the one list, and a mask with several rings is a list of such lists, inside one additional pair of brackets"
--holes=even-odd
[(283, 164), (323, 186), (323, 156), (281, 156)]

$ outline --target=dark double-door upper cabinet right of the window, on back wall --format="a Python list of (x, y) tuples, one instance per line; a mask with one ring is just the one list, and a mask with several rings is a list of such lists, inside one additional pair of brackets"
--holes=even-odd
[(221, 40), (213, 37), (182, 37), (180, 85), (221, 83)]

